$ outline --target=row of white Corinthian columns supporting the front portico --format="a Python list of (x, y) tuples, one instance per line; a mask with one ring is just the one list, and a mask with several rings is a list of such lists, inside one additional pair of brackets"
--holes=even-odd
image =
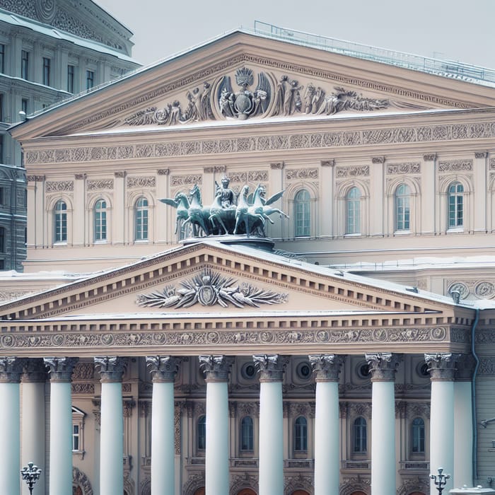
[[(339, 494), (339, 373), (344, 356), (309, 356), (316, 382), (315, 401), (315, 495)], [(395, 373), (401, 356), (366, 354), (372, 382), (371, 494), (395, 495), (397, 459), (395, 441)], [(446, 490), (472, 484), (471, 404), (467, 380), (454, 381), (452, 354), (425, 354), (431, 378), (430, 465), (436, 472), (453, 472)], [(33, 407), (42, 392), (42, 370), (50, 372), (50, 495), (72, 493), (71, 373), (76, 358), (50, 357), (33, 368), (34, 360), (0, 358), (0, 493), (20, 495), (21, 415), (20, 383), (23, 376), (23, 462), (44, 457), (39, 410)], [(122, 494), (123, 414), (122, 376), (127, 358), (95, 357), (101, 379), (100, 494)], [(284, 494), (284, 434), (282, 380), (289, 361), (276, 354), (255, 355), (260, 378), (259, 495)], [(153, 380), (151, 437), (151, 495), (175, 493), (174, 380), (180, 359), (148, 356)], [(230, 356), (199, 356), (206, 379), (206, 495), (228, 495), (228, 375)], [(25, 386), (27, 385), (27, 386)], [(462, 385), (462, 386), (461, 386)], [(456, 401), (456, 395), (458, 400)], [(455, 405), (455, 412), (454, 412)], [(454, 416), (462, 417), (468, 434), (454, 431)], [(378, 419), (378, 421), (377, 421)], [(211, 440), (213, 439), (213, 441)], [(455, 442), (454, 443), (454, 439)], [(29, 459), (31, 460), (31, 459)], [(40, 466), (42, 467), (42, 466)], [(454, 467), (456, 470), (454, 471)], [(431, 487), (434, 493), (435, 487)]]

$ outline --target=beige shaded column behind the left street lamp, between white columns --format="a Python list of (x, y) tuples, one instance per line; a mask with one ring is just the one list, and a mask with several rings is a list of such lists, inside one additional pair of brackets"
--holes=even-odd
[[(21, 465), (34, 462), (40, 468), (36, 494), (45, 494), (45, 382), (47, 372), (40, 359), (27, 359), (22, 377)], [(28, 485), (21, 484), (23, 495), (29, 495)]]

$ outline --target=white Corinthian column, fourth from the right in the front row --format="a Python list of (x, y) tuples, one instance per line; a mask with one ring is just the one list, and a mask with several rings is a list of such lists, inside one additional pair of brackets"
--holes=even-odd
[(282, 379), (286, 356), (252, 356), (260, 375), (260, 491), (284, 494), (284, 412)]

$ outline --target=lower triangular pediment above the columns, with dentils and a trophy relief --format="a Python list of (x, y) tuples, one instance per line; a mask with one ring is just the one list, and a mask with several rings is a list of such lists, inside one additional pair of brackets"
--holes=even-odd
[[(438, 298), (437, 298), (438, 299)], [(221, 243), (170, 250), (0, 306), (3, 320), (78, 315), (203, 318), (208, 315), (443, 313), (450, 305), (370, 279)], [(408, 317), (410, 318), (410, 316)]]

